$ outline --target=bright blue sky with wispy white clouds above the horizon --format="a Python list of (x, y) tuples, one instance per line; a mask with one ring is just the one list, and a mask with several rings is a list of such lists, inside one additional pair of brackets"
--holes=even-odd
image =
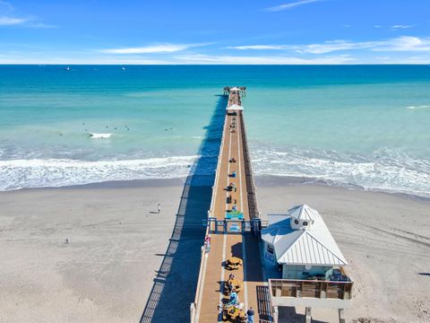
[(430, 64), (430, 0), (0, 0), (0, 64)]

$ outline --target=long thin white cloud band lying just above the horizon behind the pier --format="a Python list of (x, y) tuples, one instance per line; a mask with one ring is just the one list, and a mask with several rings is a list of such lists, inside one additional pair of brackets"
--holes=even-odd
[(181, 55), (175, 57), (182, 64), (202, 65), (335, 65), (353, 63), (348, 56), (299, 58), (299, 57), (236, 57), (210, 55)]

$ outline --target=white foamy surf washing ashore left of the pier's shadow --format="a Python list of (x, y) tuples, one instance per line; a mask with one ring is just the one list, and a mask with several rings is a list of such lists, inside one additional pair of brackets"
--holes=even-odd
[(198, 157), (101, 162), (66, 159), (0, 161), (0, 190), (82, 185), (107, 180), (176, 179), (186, 177)]

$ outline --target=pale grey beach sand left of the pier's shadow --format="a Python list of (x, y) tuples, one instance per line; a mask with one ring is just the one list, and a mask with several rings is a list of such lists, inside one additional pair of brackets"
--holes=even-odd
[(0, 321), (138, 322), (182, 189), (2, 192)]

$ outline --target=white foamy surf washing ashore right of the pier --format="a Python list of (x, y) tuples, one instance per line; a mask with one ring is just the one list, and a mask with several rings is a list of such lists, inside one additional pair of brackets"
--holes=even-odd
[(251, 152), (257, 175), (323, 179), (337, 185), (430, 197), (430, 162), (405, 153), (379, 150), (372, 156), (362, 156), (295, 149)]

